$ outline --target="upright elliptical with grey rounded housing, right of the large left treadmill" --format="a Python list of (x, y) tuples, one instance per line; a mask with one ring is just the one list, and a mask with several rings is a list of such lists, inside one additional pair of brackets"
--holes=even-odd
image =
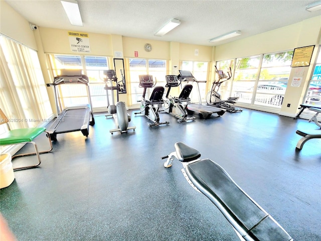
[[(127, 133), (128, 130), (133, 130), (135, 131), (136, 127), (128, 127), (128, 123), (130, 122), (130, 115), (127, 113), (126, 105), (123, 101), (118, 101), (118, 93), (120, 89), (120, 82), (123, 82), (123, 79), (119, 82), (117, 82), (117, 77), (116, 73), (113, 69), (109, 70), (104, 70), (104, 75), (106, 75), (106, 78), (104, 78), (105, 82), (105, 87), (104, 89), (106, 90), (107, 94), (107, 109), (108, 109), (108, 114), (106, 114), (106, 117), (112, 116), (115, 120), (115, 124), (117, 129), (109, 130), (111, 134), (114, 132), (120, 132), (122, 133)], [(108, 86), (108, 83), (110, 86)], [(113, 85), (113, 82), (116, 83), (116, 85)], [(109, 104), (109, 96), (108, 96), (108, 90), (111, 90), (111, 102), (112, 104)], [(116, 98), (117, 102), (115, 104), (114, 101), (114, 91), (116, 90)]]

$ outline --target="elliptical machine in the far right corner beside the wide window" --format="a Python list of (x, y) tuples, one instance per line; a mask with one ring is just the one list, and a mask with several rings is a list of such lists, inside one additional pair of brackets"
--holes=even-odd
[(237, 108), (237, 107), (229, 104), (229, 103), (235, 104), (236, 100), (239, 97), (229, 97), (226, 100), (221, 100), (221, 94), (218, 92), (221, 84), (223, 82), (229, 80), (230, 78), (232, 78), (231, 67), (230, 67), (230, 71), (227, 71), (228, 75), (226, 75), (223, 72), (223, 70), (218, 70), (216, 66), (215, 66), (215, 69), (216, 69), (216, 73), (218, 74), (218, 78), (217, 78), (217, 80), (213, 81), (212, 89), (206, 95), (207, 104), (214, 105), (215, 107), (218, 107), (218, 108), (224, 108), (230, 113), (242, 111), (243, 109)]

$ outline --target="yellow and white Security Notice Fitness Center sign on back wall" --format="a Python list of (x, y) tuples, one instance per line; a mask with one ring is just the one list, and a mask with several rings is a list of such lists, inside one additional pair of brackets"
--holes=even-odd
[(68, 32), (70, 49), (75, 53), (90, 53), (89, 35), (79, 32)]

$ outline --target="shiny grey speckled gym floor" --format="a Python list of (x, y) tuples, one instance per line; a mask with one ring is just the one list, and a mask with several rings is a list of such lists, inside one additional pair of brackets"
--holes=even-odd
[(113, 120), (98, 113), (87, 139), (59, 134), (40, 167), (15, 172), (0, 211), (18, 240), (237, 240), (177, 160), (163, 167), (178, 141), (220, 164), (294, 240), (321, 240), (321, 140), (295, 152), (295, 131), (315, 124), (245, 109), (182, 124), (160, 113), (170, 125), (149, 128), (133, 112), (135, 132), (111, 135)]

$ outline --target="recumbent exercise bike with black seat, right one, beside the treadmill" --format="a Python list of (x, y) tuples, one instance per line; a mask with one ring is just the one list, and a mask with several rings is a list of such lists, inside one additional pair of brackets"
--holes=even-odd
[(166, 86), (168, 87), (165, 102), (163, 104), (163, 109), (165, 112), (178, 118), (177, 122), (187, 122), (194, 121), (196, 118), (194, 116), (187, 117), (187, 105), (191, 103), (190, 93), (192, 91), (193, 85), (187, 84), (182, 89), (179, 97), (169, 97), (172, 87), (178, 87), (181, 84), (177, 75), (166, 75)]

